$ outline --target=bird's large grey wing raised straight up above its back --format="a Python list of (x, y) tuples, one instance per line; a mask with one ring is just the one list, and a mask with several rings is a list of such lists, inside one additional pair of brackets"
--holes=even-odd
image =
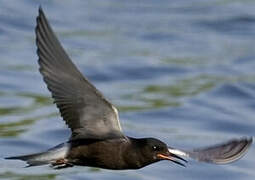
[(40, 73), (61, 116), (72, 130), (72, 139), (123, 136), (117, 109), (72, 63), (41, 7), (36, 20)]

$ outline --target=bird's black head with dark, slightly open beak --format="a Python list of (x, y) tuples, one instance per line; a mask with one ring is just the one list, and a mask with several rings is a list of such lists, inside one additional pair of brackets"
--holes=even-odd
[(167, 145), (155, 138), (142, 138), (135, 139), (135, 146), (139, 147), (139, 152), (141, 154), (141, 161), (143, 164), (148, 165), (154, 162), (158, 162), (160, 160), (169, 160), (175, 162), (179, 165), (185, 166), (184, 164), (177, 161), (177, 159), (182, 159), (175, 154), (169, 152)]

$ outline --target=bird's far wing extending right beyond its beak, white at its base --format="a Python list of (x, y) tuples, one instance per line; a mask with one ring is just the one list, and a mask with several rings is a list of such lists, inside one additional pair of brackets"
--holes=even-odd
[(169, 148), (168, 150), (175, 155), (190, 157), (202, 162), (227, 164), (241, 158), (251, 144), (252, 138), (242, 138), (191, 151), (183, 151), (173, 148)]

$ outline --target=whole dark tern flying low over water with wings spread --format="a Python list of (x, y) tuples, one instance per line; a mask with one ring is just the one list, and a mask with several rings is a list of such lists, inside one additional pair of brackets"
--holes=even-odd
[(240, 138), (205, 148), (179, 150), (156, 138), (124, 135), (117, 109), (71, 61), (41, 7), (36, 22), (39, 70), (72, 133), (67, 142), (45, 152), (6, 159), (23, 160), (28, 166), (50, 164), (56, 169), (75, 165), (139, 169), (161, 160), (185, 166), (184, 158), (226, 164), (241, 158), (252, 144), (252, 138)]

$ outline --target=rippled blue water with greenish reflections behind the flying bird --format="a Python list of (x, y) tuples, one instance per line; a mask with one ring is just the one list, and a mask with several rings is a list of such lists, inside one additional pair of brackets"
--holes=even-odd
[(254, 1), (0, 0), (0, 179), (254, 179), (254, 146), (233, 164), (187, 168), (53, 170), (2, 159), (70, 135), (38, 72), (39, 4), (75, 64), (119, 109), (125, 134), (188, 149), (254, 136)]

